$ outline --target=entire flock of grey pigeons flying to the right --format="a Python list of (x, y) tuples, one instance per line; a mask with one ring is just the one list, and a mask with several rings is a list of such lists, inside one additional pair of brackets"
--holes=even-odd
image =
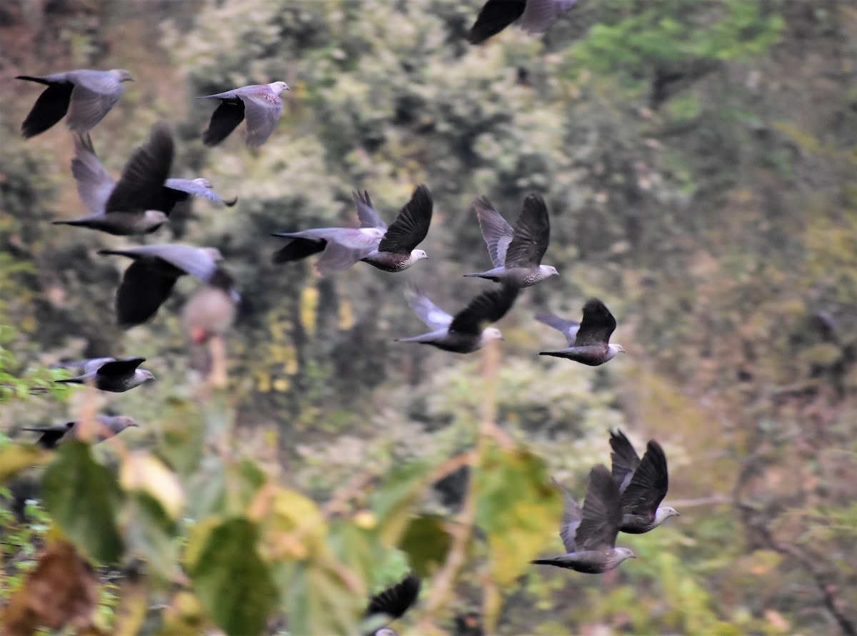
[[(524, 30), (542, 33), (573, 3), (574, 0), (488, 0), (470, 31), (470, 42), (482, 43), (516, 20)], [(177, 202), (192, 195), (226, 206), (237, 201), (223, 201), (204, 178), (169, 177), (174, 143), (170, 129), (163, 123), (156, 124), (147, 141), (135, 149), (118, 182), (107, 174), (94, 151), (89, 130), (122, 96), (123, 82), (132, 80), (128, 71), (74, 70), (41, 77), (21, 75), (18, 79), (47, 86), (22, 125), (25, 137), (39, 135), (66, 115), (69, 129), (75, 133), (72, 175), (90, 214), (55, 223), (134, 236), (157, 231), (168, 222)], [(220, 102), (203, 133), (203, 142), (207, 146), (219, 144), (246, 120), (248, 146), (260, 147), (279, 121), (283, 111), (280, 93), (287, 90), (285, 82), (274, 81), (202, 97)], [(315, 228), (275, 234), (286, 243), (273, 254), (273, 262), (298, 261), (321, 253), (315, 263), (315, 269), (321, 274), (343, 270), (358, 261), (395, 273), (428, 257), (422, 249), (417, 249), (432, 219), (433, 200), (426, 185), (417, 186), (411, 200), (391, 225), (381, 219), (368, 192), (355, 193), (353, 198), (359, 228)], [(400, 342), (433, 345), (456, 353), (477, 351), (492, 340), (502, 339), (500, 330), (490, 324), (506, 315), (521, 289), (558, 274), (554, 267), (542, 265), (542, 257), (548, 249), (550, 223), (548, 207), (541, 195), (531, 194), (524, 199), (514, 226), (509, 225), (485, 197), (477, 198), (474, 207), (493, 267), (464, 276), (489, 279), (500, 285), (474, 297), (454, 316), (437, 307), (423, 291), (412, 290), (408, 297), (411, 308), (431, 331), (399, 339)], [(207, 285), (203, 291), (222, 298), (229, 307), (240, 300), (232, 287), (231, 276), (219, 266), (222, 258), (218, 249), (160, 244), (103, 249), (99, 254), (123, 256), (133, 261), (123, 274), (116, 296), (117, 322), (123, 327), (150, 320), (170, 295), (177, 279), (185, 274), (200, 279)], [(203, 313), (211, 306), (206, 303), (202, 303)], [(560, 331), (567, 343), (564, 349), (542, 351), (541, 355), (565, 357), (596, 366), (624, 351), (621, 345), (610, 344), (616, 321), (598, 299), (585, 303), (580, 322), (552, 314), (536, 315), (536, 320)], [(205, 334), (195, 338), (200, 342), (204, 339)], [(140, 369), (143, 362), (142, 357), (107, 357), (64, 363), (66, 367), (82, 367), (84, 373), (59, 381), (121, 393), (154, 380), (150, 371)], [(137, 426), (130, 417), (99, 416), (96, 423), (99, 429), (95, 442)], [(77, 424), (25, 430), (39, 432), (39, 444), (53, 448), (57, 442), (77, 437), (80, 430)], [(654, 440), (649, 441), (640, 459), (621, 431), (611, 432), (610, 445), (612, 471), (604, 465), (591, 469), (583, 507), (562, 490), (560, 537), (566, 554), (533, 563), (582, 573), (606, 572), (634, 557), (630, 549), (615, 547), (619, 531), (648, 532), (678, 514), (672, 507), (660, 506), (668, 489), (667, 460), (662, 447)], [(367, 615), (399, 617), (416, 602), (419, 588), (419, 579), (409, 575), (374, 597)]]

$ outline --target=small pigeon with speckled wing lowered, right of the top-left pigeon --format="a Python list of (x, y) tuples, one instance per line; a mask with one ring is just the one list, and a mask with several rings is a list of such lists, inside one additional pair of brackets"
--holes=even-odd
[(247, 145), (260, 147), (277, 127), (279, 116), (283, 114), (283, 100), (279, 99), (279, 93), (287, 90), (289, 87), (285, 81), (274, 81), (197, 98), (220, 100), (208, 129), (202, 134), (202, 143), (217, 146), (247, 117)]

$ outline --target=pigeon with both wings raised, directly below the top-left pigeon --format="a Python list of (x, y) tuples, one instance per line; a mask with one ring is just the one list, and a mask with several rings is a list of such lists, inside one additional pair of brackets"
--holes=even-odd
[(77, 192), (91, 214), (82, 219), (54, 221), (55, 225), (76, 225), (110, 234), (148, 234), (164, 225), (176, 204), (175, 190), (164, 185), (173, 156), (170, 129), (156, 124), (141, 147), (131, 153), (118, 183), (95, 154), (89, 135), (75, 138), (75, 159), (71, 173)]

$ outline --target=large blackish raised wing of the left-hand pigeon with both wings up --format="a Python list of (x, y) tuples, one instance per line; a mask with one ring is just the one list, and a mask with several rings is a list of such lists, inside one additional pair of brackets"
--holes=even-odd
[(164, 123), (155, 125), (148, 139), (131, 153), (116, 188), (105, 206), (106, 212), (171, 209), (164, 192), (170, 174), (174, 145), (170, 129)]

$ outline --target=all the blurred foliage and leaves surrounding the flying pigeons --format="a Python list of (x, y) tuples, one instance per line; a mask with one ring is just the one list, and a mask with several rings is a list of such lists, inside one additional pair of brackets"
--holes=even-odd
[[(857, 7), (579, 0), (542, 38), (473, 47), (481, 5), (3, 3), (0, 477), (29, 476), (46, 508), (0, 512), (7, 620), (46, 542), (99, 566), (77, 585), (97, 592), (90, 628), (117, 633), (353, 633), (409, 567), (428, 578), (405, 633), (467, 633), (470, 612), (506, 634), (855, 633)], [(195, 283), (123, 332), (124, 263), (96, 251), (135, 239), (50, 225), (83, 211), (71, 135), (21, 139), (39, 87), (14, 77), (79, 68), (135, 78), (93, 130), (112, 175), (165, 120), (171, 176), (239, 197), (142, 239), (225, 255), (244, 298), (225, 388), (190, 369)], [(202, 145), (195, 96), (277, 80), (291, 92), (264, 147), (243, 129)], [(271, 263), (271, 232), (355, 225), (357, 189), (391, 221), (417, 183), (428, 261), (325, 279)], [(423, 328), (409, 284), (449, 311), (488, 286), (461, 278), (488, 267), (473, 199), (512, 222), (532, 191), (560, 277), (521, 294), (500, 347), (395, 344)], [(578, 318), (591, 296), (627, 355), (537, 357), (561, 337), (533, 314)], [(49, 390), (45, 367), (108, 355), (147, 357), (159, 381)], [(141, 428), (53, 457), (21, 432), (96, 410)], [(582, 497), (616, 427), (662, 442), (682, 516), (620, 535), (640, 558), (612, 573), (529, 567), (561, 549), (548, 477)]]

